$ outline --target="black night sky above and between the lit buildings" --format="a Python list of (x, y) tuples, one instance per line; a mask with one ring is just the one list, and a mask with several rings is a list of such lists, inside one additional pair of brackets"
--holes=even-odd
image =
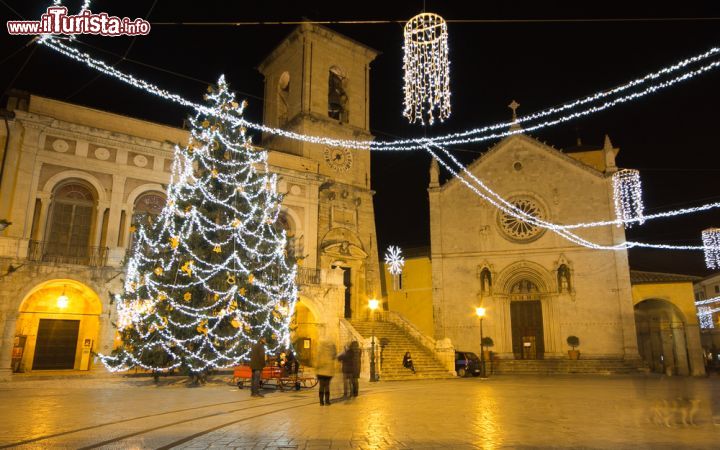
[[(0, 17), (35, 20), (50, 1), (0, 0)], [(64, 2), (70, 11), (80, 1)], [(186, 5), (187, 3), (187, 5)], [(263, 79), (255, 69), (287, 34), (289, 25), (180, 26), (160, 22), (407, 20), (423, 2), (178, 2), (97, 1), (93, 12), (145, 17), (148, 36), (83, 36), (80, 48), (160, 87), (200, 101), (208, 83), (224, 73), (250, 103), (249, 118), (262, 118)], [(503, 3), (502, 5), (500, 3)], [(461, 19), (596, 19), (571, 22), (450, 23), (452, 116), (427, 130), (402, 117), (402, 24), (329, 25), (382, 52), (371, 66), (371, 131), (377, 139), (440, 134), (559, 105), (609, 89), (720, 45), (720, 6), (683, 2), (595, 9), (586, 2), (427, 1), (426, 9), (448, 21)], [(630, 2), (626, 2), (630, 3)], [(635, 9), (632, 9), (635, 8)], [(597, 19), (669, 19), (612, 20)], [(678, 19), (693, 20), (678, 20)], [(28, 36), (0, 38), (0, 89), (10, 88), (155, 122), (180, 126), (190, 111), (155, 98), (44, 47)], [(21, 50), (19, 50), (21, 49)], [(18, 51), (19, 50), (19, 51)], [(14, 52), (17, 52), (13, 55)], [(12, 55), (12, 56), (11, 56)], [(123, 59), (123, 55), (125, 58)], [(153, 67), (151, 67), (153, 66)], [(532, 133), (557, 148), (601, 146), (607, 133), (620, 147), (620, 167), (640, 169), (646, 213), (720, 201), (720, 69), (689, 82), (591, 117)], [(4, 103), (5, 99), (3, 99)], [(493, 143), (461, 146), (469, 163)], [(372, 186), (380, 248), (429, 244), (429, 156), (373, 154)], [(561, 218), (558, 218), (561, 220)], [(588, 217), (588, 220), (595, 219)], [(699, 245), (700, 232), (720, 226), (720, 210), (657, 220), (627, 232), (629, 240)], [(705, 275), (701, 252), (631, 250), (631, 267)]]

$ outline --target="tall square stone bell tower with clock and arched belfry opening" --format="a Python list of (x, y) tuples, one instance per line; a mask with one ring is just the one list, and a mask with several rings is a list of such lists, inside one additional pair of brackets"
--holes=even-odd
[[(370, 63), (378, 52), (328, 28), (297, 27), (260, 64), (265, 77), (265, 125), (305, 135), (371, 140)], [(344, 316), (362, 317), (380, 297), (380, 273), (370, 152), (265, 134), (263, 146), (295, 155), (319, 183), (318, 268), (340, 267)]]

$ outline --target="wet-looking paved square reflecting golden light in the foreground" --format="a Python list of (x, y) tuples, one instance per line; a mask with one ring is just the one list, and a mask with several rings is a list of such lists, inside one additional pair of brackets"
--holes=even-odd
[(718, 376), (363, 383), (360, 397), (331, 406), (317, 388), (251, 398), (219, 381), (76, 378), (0, 384), (0, 404), (0, 448), (656, 449), (720, 439)]

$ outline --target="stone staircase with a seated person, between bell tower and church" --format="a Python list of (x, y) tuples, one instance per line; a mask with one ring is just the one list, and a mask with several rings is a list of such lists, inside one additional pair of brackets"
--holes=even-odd
[[(452, 375), (435, 359), (432, 353), (419, 345), (393, 323), (352, 320), (352, 326), (364, 338), (375, 335), (376, 344), (387, 339), (382, 350), (382, 369), (380, 379), (383, 381), (452, 378)], [(415, 373), (402, 365), (405, 352), (410, 352), (415, 366)], [(378, 356), (379, 358), (379, 356)]]

